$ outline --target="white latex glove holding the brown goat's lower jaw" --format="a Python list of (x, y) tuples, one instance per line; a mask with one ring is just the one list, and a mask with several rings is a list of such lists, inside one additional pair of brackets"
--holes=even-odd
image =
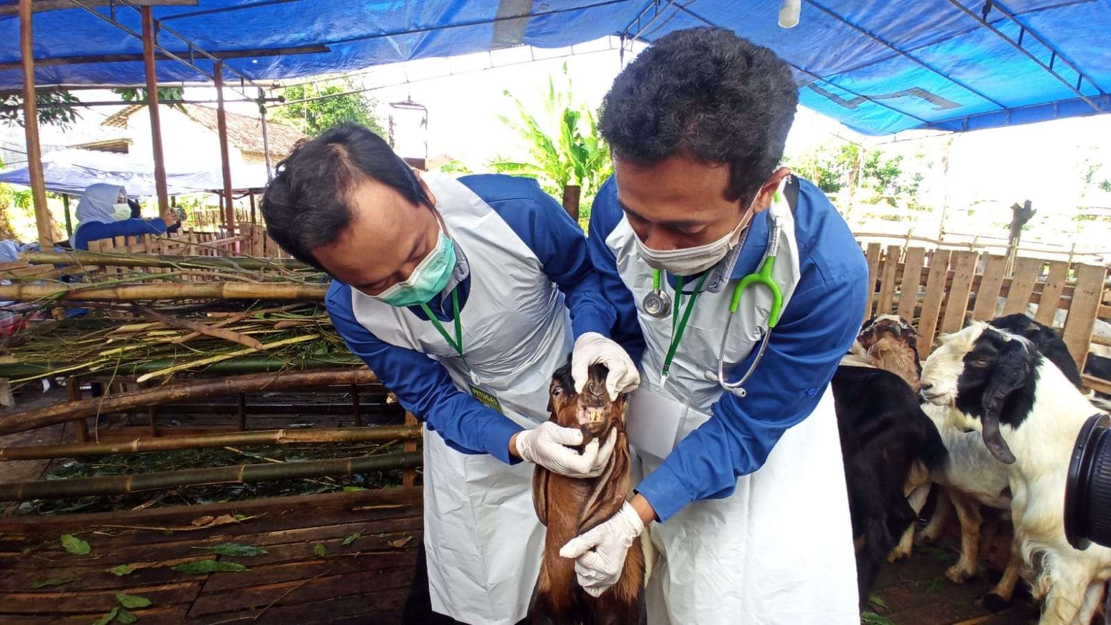
[(568, 477), (598, 477), (613, 453), (617, 433), (617, 427), (610, 430), (605, 444), (601, 446), (598, 438), (591, 440), (580, 454), (567, 445), (581, 445), (581, 431), (546, 421), (517, 435), (517, 455)]

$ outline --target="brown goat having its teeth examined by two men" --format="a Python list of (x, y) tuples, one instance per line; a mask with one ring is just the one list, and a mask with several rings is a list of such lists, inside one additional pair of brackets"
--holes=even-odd
[(590, 367), (590, 380), (581, 394), (574, 392), (570, 365), (558, 370), (549, 387), (550, 421), (579, 427), (583, 444), (604, 441), (617, 430), (613, 454), (598, 477), (577, 480), (537, 465), (532, 476), (532, 503), (537, 516), (548, 527), (544, 555), (529, 604), (532, 625), (643, 624), (644, 553), (634, 542), (625, 555), (618, 583), (599, 597), (579, 586), (574, 560), (561, 557), (560, 548), (621, 510), (629, 496), (629, 440), (625, 437), (625, 395), (610, 401), (605, 391), (607, 370)]

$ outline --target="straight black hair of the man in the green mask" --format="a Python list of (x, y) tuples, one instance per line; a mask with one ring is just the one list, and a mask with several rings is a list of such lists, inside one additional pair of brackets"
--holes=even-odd
[(312, 249), (332, 243), (351, 223), (350, 193), (366, 179), (432, 205), (417, 174), (381, 137), (343, 122), (301, 141), (278, 163), (260, 204), (267, 232), (293, 258), (324, 270)]

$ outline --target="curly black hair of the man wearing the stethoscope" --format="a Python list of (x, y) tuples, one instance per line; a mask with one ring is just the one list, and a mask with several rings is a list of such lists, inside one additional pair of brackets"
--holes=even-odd
[(614, 157), (653, 164), (687, 152), (729, 164), (730, 201), (748, 203), (783, 157), (799, 91), (788, 64), (723, 28), (677, 30), (618, 74), (600, 129)]

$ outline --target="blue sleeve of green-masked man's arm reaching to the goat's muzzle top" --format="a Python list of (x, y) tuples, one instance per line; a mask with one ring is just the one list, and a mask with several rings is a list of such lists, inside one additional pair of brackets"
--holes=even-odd
[(527, 178), (467, 175), (459, 182), (482, 198), (537, 255), (567, 298), (574, 337), (587, 332), (609, 336), (613, 308), (602, 295), (587, 238), (563, 206)]

